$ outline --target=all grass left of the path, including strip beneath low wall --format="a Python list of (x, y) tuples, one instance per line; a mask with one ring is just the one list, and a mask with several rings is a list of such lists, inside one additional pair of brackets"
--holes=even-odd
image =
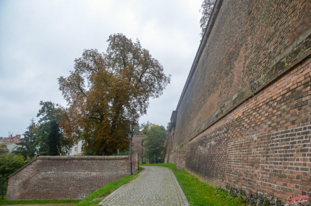
[[(131, 181), (135, 176), (141, 172), (144, 168), (139, 167), (139, 171), (135, 174), (123, 177), (119, 180), (115, 180), (113, 182), (108, 183), (104, 187), (92, 192), (89, 196), (87, 196), (83, 200), (19, 200), (19, 201), (5, 201), (1, 200), (2, 196), (0, 197), (0, 205), (10, 205), (10, 204), (70, 204), (70, 203), (77, 203), (76, 206), (94, 206), (95, 204), (99, 203), (104, 197), (112, 193), (114, 190), (118, 189), (122, 185)], [(96, 201), (93, 201), (95, 198), (100, 198)], [(5, 199), (5, 196), (4, 196)]]

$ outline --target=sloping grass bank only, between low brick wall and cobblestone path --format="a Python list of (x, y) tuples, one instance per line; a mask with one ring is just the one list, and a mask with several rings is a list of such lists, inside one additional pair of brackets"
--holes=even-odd
[[(139, 170), (130, 176), (123, 177), (121, 179), (115, 180), (113, 182), (108, 183), (104, 187), (92, 192), (89, 196), (87, 196), (85, 199), (81, 200), (78, 204), (75, 206), (94, 206), (95, 204), (99, 203), (102, 199), (104, 199), (107, 195), (112, 193), (114, 190), (118, 189), (122, 185), (128, 183), (132, 179), (136, 177), (136, 175), (141, 172), (144, 168), (139, 167)], [(98, 198), (95, 201), (95, 198)]]

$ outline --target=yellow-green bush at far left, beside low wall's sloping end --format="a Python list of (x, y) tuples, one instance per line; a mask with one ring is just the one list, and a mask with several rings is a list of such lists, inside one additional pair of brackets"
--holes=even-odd
[(4, 194), (7, 190), (7, 177), (25, 165), (23, 156), (12, 154), (0, 155), (0, 179), (4, 180)]

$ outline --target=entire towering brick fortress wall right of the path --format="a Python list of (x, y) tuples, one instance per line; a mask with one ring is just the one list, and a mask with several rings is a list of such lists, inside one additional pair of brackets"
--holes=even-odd
[(310, 204), (310, 73), (310, 1), (217, 0), (166, 162), (186, 152), (188, 172), (248, 204)]

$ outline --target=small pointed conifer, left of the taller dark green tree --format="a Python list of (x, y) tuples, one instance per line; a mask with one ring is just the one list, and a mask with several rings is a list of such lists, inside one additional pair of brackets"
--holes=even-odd
[(38, 124), (35, 123), (34, 118), (30, 119), (30, 124), (27, 127), (27, 131), (23, 134), (24, 138), (21, 139), (17, 145), (21, 146), (14, 151), (15, 153), (21, 153), (24, 156), (24, 160), (27, 157), (33, 158), (35, 157), (35, 151), (37, 148), (37, 141), (36, 141), (36, 132), (38, 129)]

